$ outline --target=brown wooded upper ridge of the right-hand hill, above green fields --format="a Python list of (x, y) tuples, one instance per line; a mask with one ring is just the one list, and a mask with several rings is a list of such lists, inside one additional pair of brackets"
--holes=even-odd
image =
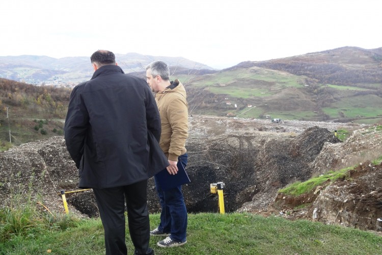
[(241, 62), (227, 68), (253, 66), (305, 75), (322, 84), (359, 85), (382, 83), (382, 47), (341, 47), (282, 59)]

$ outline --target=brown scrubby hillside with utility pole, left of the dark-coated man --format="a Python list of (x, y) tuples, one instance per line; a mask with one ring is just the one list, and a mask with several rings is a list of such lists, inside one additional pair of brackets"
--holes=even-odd
[(0, 78), (0, 149), (62, 135), (70, 93)]

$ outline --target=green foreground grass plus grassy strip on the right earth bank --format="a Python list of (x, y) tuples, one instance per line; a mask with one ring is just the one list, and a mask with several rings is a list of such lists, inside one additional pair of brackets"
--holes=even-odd
[[(374, 129), (382, 129), (380, 126)], [(373, 161), (382, 162), (382, 156)], [(318, 185), (346, 178), (345, 168), (330, 171), (280, 190), (300, 195)], [(31, 184), (30, 184), (31, 190)], [(17, 192), (16, 192), (17, 193)], [(5, 254), (104, 254), (103, 227), (99, 218), (78, 219), (69, 214), (41, 210), (39, 196), (13, 195), (11, 205), (0, 211), (0, 255)], [(307, 205), (302, 205), (305, 207)], [(46, 208), (45, 208), (46, 209)], [(298, 207), (296, 208), (298, 209)], [(151, 228), (160, 220), (150, 215)], [(188, 214), (187, 244), (163, 249), (151, 237), (155, 254), (381, 254), (382, 236), (371, 232), (308, 220), (290, 221), (249, 213)], [(126, 244), (134, 250), (126, 221)]]

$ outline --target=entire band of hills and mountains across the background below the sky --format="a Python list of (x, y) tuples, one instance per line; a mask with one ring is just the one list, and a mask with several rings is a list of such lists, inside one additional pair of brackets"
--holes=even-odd
[[(382, 122), (381, 54), (382, 48), (343, 47), (284, 59), (243, 62), (224, 70), (208, 69), (182, 58), (160, 58), (172, 64), (171, 79), (178, 78), (185, 85), (192, 116), (374, 124)], [(118, 54), (117, 57), (126, 73), (141, 78), (145, 77), (144, 65), (157, 58), (139, 54)], [(7, 144), (9, 129), (14, 144), (63, 132), (60, 120), (66, 116), (72, 87), (78, 84), (77, 80), (88, 80), (92, 75), (89, 58), (19, 56), (0, 57), (0, 60), (0, 75), (3, 70), (13, 77), (20, 73), (28, 73), (29, 77), (37, 75), (37, 78), (40, 75), (56, 77), (49, 78), (53, 79), (50, 82), (63, 87), (38, 87), (0, 78), (3, 84), (0, 147), (10, 146)], [(49, 71), (46, 68), (50, 68)], [(35, 122), (40, 120), (42, 127)]]

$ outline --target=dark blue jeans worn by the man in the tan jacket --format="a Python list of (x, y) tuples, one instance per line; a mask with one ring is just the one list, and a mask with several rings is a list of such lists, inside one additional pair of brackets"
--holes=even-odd
[[(187, 158), (187, 153), (185, 153), (179, 156), (178, 161), (186, 167)], [(158, 230), (163, 233), (171, 233), (170, 238), (177, 242), (186, 241), (187, 210), (184, 203), (182, 186), (162, 190), (155, 175), (154, 181), (162, 208)]]

